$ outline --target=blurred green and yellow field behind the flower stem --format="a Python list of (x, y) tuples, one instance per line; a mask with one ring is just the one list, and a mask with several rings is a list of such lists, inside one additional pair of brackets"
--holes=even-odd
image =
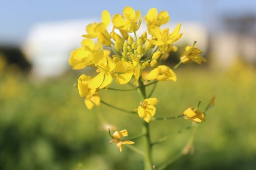
[[(138, 115), (116, 111), (103, 104), (87, 110), (72, 85), (79, 72), (72, 71), (46, 82), (34, 82), (20, 73), (0, 75), (0, 169), (3, 170), (140, 170), (143, 158), (124, 146), (109, 144), (107, 124), (141, 132)], [(195, 153), (167, 169), (239, 169), (256, 167), (256, 70), (237, 64), (220, 71), (181, 66), (177, 82), (159, 82), (153, 97), (159, 99), (155, 116), (176, 116), (200, 100), (203, 110), (212, 96), (215, 107), (200, 123)], [(127, 86), (112, 85), (118, 88)], [(147, 87), (149, 91), (152, 87)], [(102, 100), (133, 110), (140, 98), (136, 91), (101, 90)], [(183, 118), (150, 123), (151, 139), (174, 134), (191, 124)], [(172, 158), (187, 142), (191, 130), (155, 146), (155, 165)], [(135, 140), (138, 147), (142, 141)]]

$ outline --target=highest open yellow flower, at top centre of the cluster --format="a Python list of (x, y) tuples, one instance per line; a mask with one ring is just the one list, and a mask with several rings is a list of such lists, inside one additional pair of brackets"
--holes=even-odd
[(120, 14), (114, 15), (112, 22), (114, 26), (120, 30), (134, 32), (139, 29), (140, 24), (142, 23), (142, 17), (140, 20), (139, 18), (140, 10), (135, 13), (134, 9), (131, 7), (125, 7), (123, 10), (123, 16)]

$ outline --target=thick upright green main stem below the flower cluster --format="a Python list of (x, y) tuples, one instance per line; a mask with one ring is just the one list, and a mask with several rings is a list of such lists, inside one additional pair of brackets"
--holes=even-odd
[[(141, 94), (142, 100), (146, 99), (146, 89), (143, 84), (142, 78), (138, 80), (139, 93)], [(142, 133), (144, 136), (145, 156), (144, 156), (144, 170), (152, 170), (152, 146), (150, 141), (149, 124), (143, 120)]]

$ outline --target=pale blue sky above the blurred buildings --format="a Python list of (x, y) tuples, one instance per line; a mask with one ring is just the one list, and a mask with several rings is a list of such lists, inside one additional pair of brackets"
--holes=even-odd
[(100, 18), (104, 9), (113, 15), (125, 6), (139, 9), (143, 16), (155, 7), (168, 11), (171, 22), (211, 27), (225, 13), (255, 13), (256, 0), (0, 0), (0, 45), (19, 46), (37, 23)]

